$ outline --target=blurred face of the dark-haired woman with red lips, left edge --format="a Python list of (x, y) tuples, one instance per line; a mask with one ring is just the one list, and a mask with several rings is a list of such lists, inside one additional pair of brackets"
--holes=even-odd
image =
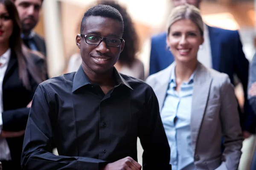
[(9, 17), (6, 7), (0, 3), (0, 43), (9, 43), (12, 35), (13, 22)]

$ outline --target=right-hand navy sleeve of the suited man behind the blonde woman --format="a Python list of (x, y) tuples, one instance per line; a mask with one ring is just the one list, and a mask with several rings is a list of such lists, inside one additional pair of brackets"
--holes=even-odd
[(236, 43), (234, 47), (234, 49), (236, 49), (236, 51), (234, 51), (234, 56), (236, 56), (234, 71), (237, 74), (238, 78), (240, 79), (244, 91), (244, 115), (242, 116), (243, 120), (241, 120), (242, 129), (250, 133), (255, 133), (256, 116), (254, 115), (253, 110), (249, 104), (249, 100), (247, 98), (249, 62), (244, 55), (242, 43), (239, 37), (239, 32), (235, 31), (234, 36), (236, 37)]

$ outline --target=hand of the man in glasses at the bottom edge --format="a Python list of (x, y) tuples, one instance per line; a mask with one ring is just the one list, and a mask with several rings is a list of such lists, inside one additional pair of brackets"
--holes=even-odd
[(102, 170), (141, 170), (141, 165), (131, 157), (107, 164)]

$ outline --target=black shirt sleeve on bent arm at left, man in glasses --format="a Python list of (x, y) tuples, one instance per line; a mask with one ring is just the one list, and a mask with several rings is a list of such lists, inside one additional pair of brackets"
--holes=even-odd
[(86, 157), (56, 156), (52, 153), (52, 115), (56, 114), (54, 99), (43, 85), (39, 85), (33, 98), (26, 127), (21, 166), (26, 170), (99, 170), (106, 161)]

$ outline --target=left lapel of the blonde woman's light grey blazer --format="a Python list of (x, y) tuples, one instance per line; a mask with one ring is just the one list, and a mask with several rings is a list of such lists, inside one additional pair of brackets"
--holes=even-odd
[(157, 77), (157, 86), (154, 92), (157, 95), (160, 112), (163, 108), (163, 103), (166, 98), (166, 91), (168, 89), (169, 80), (172, 74), (172, 68), (174, 66), (175, 63), (173, 62), (169, 67), (162, 71), (162, 74), (160, 74), (160, 76)]

